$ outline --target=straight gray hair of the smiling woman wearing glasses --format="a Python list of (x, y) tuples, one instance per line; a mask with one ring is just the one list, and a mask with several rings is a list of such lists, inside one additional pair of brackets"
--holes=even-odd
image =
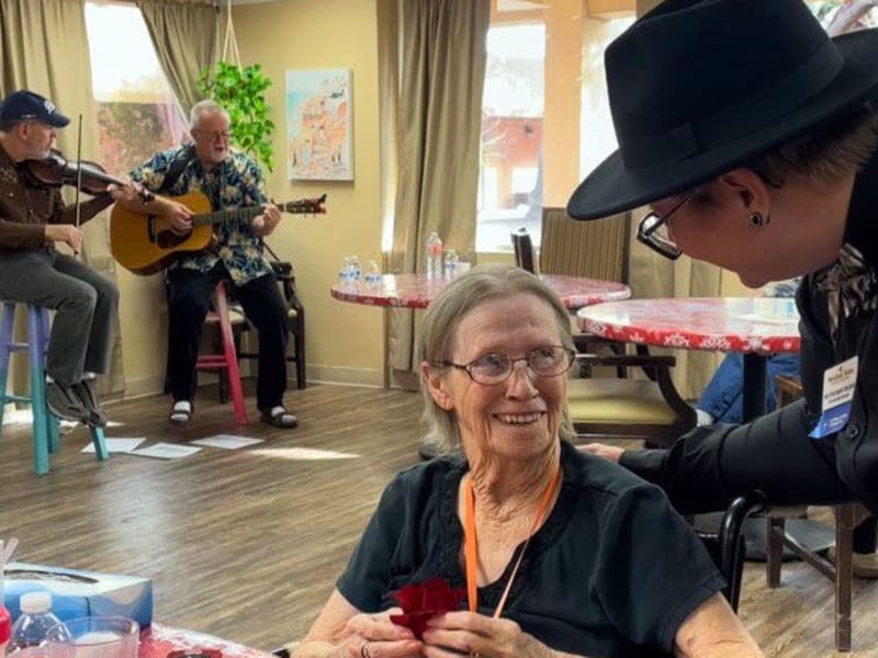
[[(460, 275), (430, 302), (420, 325), (418, 364), (427, 362), (434, 372), (440, 372), (444, 376), (449, 367), (441, 362), (451, 359), (451, 344), (460, 319), (487, 302), (522, 293), (533, 295), (552, 308), (561, 344), (573, 348), (570, 314), (554, 291), (530, 272), (511, 265), (489, 264), (473, 268)], [(454, 450), (460, 445), (454, 412), (436, 404), (423, 379), (421, 373), (420, 390), (424, 396), (424, 421), (429, 427), (428, 440), (444, 452)], [(575, 435), (566, 410), (559, 434), (562, 439), (572, 439)]]

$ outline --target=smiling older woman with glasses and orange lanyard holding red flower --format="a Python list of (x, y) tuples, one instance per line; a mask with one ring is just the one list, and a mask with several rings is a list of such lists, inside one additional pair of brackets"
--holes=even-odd
[[(664, 495), (566, 441), (570, 316), (539, 277), (463, 274), (430, 303), (419, 343), (431, 432), (462, 456), (387, 486), (297, 658), (763, 655)], [(431, 578), (465, 588), (469, 611), (417, 639), (389, 609)]]

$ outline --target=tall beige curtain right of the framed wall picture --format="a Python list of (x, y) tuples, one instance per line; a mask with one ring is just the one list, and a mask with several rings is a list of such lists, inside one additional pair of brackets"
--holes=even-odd
[[(383, 111), (396, 126), (392, 272), (423, 272), (429, 232), (473, 260), (489, 0), (404, 0), (380, 11)], [(386, 10), (387, 8), (384, 7)], [(394, 44), (389, 35), (398, 34)], [(398, 80), (398, 84), (397, 84)], [(385, 181), (386, 183), (386, 181)], [(385, 184), (385, 190), (392, 189)], [(416, 321), (391, 314), (392, 383), (412, 386)]]

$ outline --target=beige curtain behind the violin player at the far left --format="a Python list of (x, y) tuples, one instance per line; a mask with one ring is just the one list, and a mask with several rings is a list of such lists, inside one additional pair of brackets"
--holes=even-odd
[[(86, 35), (85, 0), (0, 0), (0, 91), (30, 89), (45, 95), (72, 121), (58, 133), (57, 148), (69, 159), (77, 155), (77, 126), (82, 117), (83, 159), (98, 159), (98, 111), (91, 89), (91, 64)], [(65, 191), (67, 202), (75, 193)], [(85, 197), (88, 198), (88, 197)], [(115, 261), (108, 249), (108, 213), (83, 227), (83, 260), (115, 281)], [(24, 367), (13, 373), (16, 389), (26, 381)], [(122, 339), (116, 326), (110, 373), (101, 377), (105, 393), (121, 393)]]

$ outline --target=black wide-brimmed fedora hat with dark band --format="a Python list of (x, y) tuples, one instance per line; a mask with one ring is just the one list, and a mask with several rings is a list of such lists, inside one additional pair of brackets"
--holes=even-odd
[(740, 166), (878, 95), (878, 30), (830, 38), (802, 0), (665, 0), (606, 53), (619, 149), (567, 204), (597, 219)]

